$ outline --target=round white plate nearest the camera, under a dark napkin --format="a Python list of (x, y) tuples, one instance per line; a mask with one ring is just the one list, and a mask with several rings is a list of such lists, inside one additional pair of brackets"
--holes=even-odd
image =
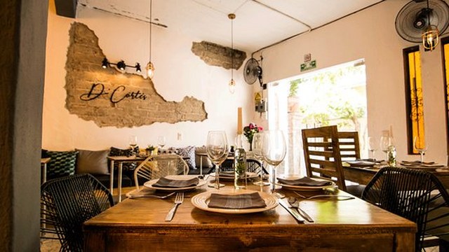
[(267, 207), (257, 208), (257, 209), (220, 209), (220, 208), (214, 208), (214, 207), (208, 207), (209, 198), (211, 193), (222, 193), (222, 194), (229, 194), (229, 195), (238, 195), (242, 193), (255, 193), (256, 191), (253, 190), (220, 190), (220, 192), (205, 192), (200, 193), (198, 195), (195, 195), (192, 197), (192, 204), (194, 207), (199, 208), (204, 211), (211, 211), (214, 213), (221, 213), (221, 214), (251, 214), (251, 213), (259, 213), (262, 211), (267, 211), (269, 209), (273, 209), (276, 207), (279, 202), (274, 195), (269, 195), (268, 193), (259, 193), (260, 197), (262, 197), (262, 200), (264, 200), (265, 204), (267, 204)]

